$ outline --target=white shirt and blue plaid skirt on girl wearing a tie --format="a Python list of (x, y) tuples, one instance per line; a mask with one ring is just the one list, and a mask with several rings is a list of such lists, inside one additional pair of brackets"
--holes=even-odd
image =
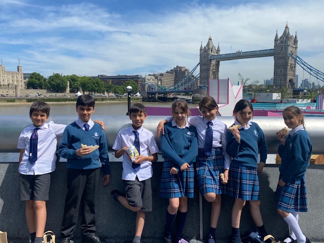
[(230, 165), (230, 157), (226, 152), (227, 126), (217, 117), (211, 120), (213, 145), (211, 154), (206, 156), (204, 147), (208, 121), (203, 116), (188, 118), (188, 123), (196, 127), (198, 135), (197, 182), (201, 195), (208, 192), (224, 194), (225, 185), (220, 182), (219, 175), (224, 172), (224, 169), (228, 169)]

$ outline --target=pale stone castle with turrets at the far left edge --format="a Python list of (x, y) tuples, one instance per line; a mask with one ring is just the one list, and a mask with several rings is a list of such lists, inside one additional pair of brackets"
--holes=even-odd
[(20, 62), (17, 71), (7, 71), (1, 59), (0, 65), (0, 95), (1, 96), (17, 96), (21, 89), (25, 89), (22, 66)]

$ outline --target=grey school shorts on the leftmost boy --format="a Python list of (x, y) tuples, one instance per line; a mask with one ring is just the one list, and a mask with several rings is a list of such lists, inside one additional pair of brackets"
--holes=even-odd
[(19, 199), (48, 201), (51, 185), (51, 174), (22, 175), (19, 174)]

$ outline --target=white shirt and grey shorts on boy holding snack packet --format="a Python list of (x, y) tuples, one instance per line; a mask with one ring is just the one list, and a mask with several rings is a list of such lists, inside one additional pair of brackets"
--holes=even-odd
[[(137, 131), (139, 134), (140, 155), (150, 156), (150, 154), (159, 151), (153, 134), (150, 131), (143, 127), (134, 130), (133, 126), (118, 132), (112, 149), (118, 151), (123, 147), (133, 146), (135, 140), (135, 133), (133, 131)], [(143, 161), (137, 171), (132, 167), (132, 160), (128, 157), (127, 153), (123, 154), (123, 173), (121, 179), (124, 181), (126, 197), (131, 206), (142, 207), (141, 211), (143, 212), (152, 211), (152, 175), (151, 161)], [(136, 188), (140, 188), (140, 191), (136, 191), (138, 193), (134, 193), (134, 190), (137, 190)]]

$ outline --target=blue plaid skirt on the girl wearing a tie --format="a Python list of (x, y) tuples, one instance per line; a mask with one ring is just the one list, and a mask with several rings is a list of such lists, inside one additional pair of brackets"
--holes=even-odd
[(206, 157), (203, 148), (198, 149), (197, 181), (201, 195), (208, 192), (225, 193), (225, 185), (220, 182), (219, 174), (224, 172), (224, 154), (220, 148), (212, 148), (212, 153)]

